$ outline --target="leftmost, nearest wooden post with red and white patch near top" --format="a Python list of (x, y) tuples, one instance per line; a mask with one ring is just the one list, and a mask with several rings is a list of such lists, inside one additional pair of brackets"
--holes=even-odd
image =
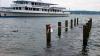
[(50, 24), (46, 25), (47, 48), (51, 47), (51, 27)]

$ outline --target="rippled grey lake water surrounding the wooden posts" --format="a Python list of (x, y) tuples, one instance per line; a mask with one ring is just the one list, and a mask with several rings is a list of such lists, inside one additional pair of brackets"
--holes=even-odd
[[(57, 37), (57, 22), (79, 18), (79, 26)], [(82, 51), (82, 25), (93, 18), (87, 51)], [(70, 22), (69, 22), (70, 23)], [(45, 25), (51, 24), (52, 47), (46, 48)], [(0, 18), (0, 56), (100, 56), (100, 15)]]

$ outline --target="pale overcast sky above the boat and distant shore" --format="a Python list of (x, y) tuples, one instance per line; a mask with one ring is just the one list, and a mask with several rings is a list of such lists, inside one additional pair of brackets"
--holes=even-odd
[[(0, 0), (0, 6), (9, 6), (13, 0)], [(31, 0), (29, 0), (31, 1)], [(36, 1), (36, 0), (32, 0)], [(97, 10), (100, 11), (100, 0), (42, 0), (43, 2), (56, 3), (70, 10)]]

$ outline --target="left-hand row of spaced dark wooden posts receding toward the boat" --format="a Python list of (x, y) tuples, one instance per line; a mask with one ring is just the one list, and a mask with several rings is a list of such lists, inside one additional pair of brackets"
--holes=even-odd
[[(78, 26), (78, 18), (75, 18), (74, 20), (70, 20), (70, 28), (72, 29), (73, 27)], [(73, 25), (74, 24), (74, 25)], [(65, 32), (68, 31), (68, 20), (65, 20)], [(58, 37), (61, 37), (61, 31), (62, 31), (62, 25), (61, 22), (58, 22)], [(51, 47), (51, 25), (47, 24), (46, 25), (46, 43), (47, 43), (47, 48)]]

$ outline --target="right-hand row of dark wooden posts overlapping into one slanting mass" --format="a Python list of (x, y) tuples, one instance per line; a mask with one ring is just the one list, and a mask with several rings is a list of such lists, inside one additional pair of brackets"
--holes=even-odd
[(92, 27), (92, 18), (90, 18), (89, 21), (85, 25), (83, 25), (83, 46), (84, 47), (87, 46), (91, 27)]

